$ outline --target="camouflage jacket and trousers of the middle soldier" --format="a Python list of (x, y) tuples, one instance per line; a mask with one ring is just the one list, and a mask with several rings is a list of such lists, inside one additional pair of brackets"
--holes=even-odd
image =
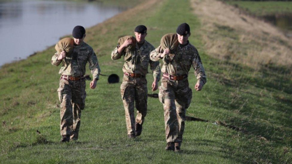
[[(112, 51), (112, 60), (120, 59), (125, 55), (125, 50), (121, 54), (118, 53), (120, 45)], [(153, 71), (153, 77), (159, 80), (160, 67), (159, 62), (150, 60), (149, 53), (154, 50), (154, 47), (146, 40), (139, 48), (136, 43), (136, 50), (127, 52), (131, 57), (128, 58), (123, 67), (124, 73), (141, 74), (143, 77), (129, 77), (124, 75), (121, 84), (121, 97), (124, 103), (127, 134), (135, 134), (135, 116), (134, 116), (134, 101), (137, 108), (136, 122), (143, 124), (147, 114), (147, 80), (145, 78), (150, 63), (150, 69)]]

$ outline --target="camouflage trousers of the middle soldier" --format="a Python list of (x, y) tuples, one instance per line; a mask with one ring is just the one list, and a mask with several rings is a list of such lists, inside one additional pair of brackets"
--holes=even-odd
[[(145, 77), (124, 75), (121, 84), (121, 97), (124, 103), (127, 134), (135, 134), (135, 122), (142, 125), (147, 114), (147, 80)], [(137, 109), (135, 120), (134, 102)]]

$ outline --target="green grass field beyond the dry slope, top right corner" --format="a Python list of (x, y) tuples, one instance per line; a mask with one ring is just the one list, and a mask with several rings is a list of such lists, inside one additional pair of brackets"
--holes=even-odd
[(225, 0), (225, 2), (247, 10), (256, 16), (292, 14), (292, 1)]

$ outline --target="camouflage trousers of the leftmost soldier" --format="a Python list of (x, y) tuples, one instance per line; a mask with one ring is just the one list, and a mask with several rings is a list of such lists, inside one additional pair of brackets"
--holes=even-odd
[(60, 132), (62, 136), (70, 135), (70, 140), (78, 139), (81, 110), (85, 106), (85, 88), (84, 79), (78, 81), (60, 79), (60, 87), (57, 90), (61, 102)]

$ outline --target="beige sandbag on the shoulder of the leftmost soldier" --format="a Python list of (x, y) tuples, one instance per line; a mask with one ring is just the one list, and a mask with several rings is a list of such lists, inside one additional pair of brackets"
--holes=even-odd
[(63, 50), (66, 52), (68, 57), (73, 52), (74, 40), (72, 38), (61, 39), (56, 45), (55, 50), (60, 54)]

